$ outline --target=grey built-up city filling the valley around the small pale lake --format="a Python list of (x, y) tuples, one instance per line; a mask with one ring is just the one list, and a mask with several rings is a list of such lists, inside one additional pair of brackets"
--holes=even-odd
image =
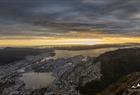
[[(54, 59), (49, 54), (27, 58), (13, 65), (0, 66), (0, 95), (81, 95), (79, 86), (101, 78), (101, 64), (94, 64), (92, 57)], [(51, 74), (53, 82), (46, 85), (50, 76), (44, 79), (45, 76), (40, 77), (40, 74)], [(24, 75), (28, 77), (24, 78)], [(36, 84), (42, 85), (43, 80), (45, 86), (38, 88)]]

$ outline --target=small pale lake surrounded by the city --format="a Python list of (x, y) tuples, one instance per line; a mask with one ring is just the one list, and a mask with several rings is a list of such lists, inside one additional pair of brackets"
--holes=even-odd
[(52, 73), (24, 73), (22, 78), (25, 82), (26, 89), (40, 89), (48, 87), (54, 80), (55, 77)]

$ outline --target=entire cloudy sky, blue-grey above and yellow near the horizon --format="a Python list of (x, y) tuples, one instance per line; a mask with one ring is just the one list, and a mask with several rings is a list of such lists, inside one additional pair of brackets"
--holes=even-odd
[(66, 44), (76, 38), (86, 39), (82, 44), (140, 42), (139, 5), (140, 0), (0, 0), (0, 45), (62, 38)]

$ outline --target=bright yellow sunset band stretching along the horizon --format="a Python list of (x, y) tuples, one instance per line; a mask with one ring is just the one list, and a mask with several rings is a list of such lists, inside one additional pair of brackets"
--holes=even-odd
[(122, 44), (140, 43), (139, 37), (103, 37), (103, 38), (65, 38), (39, 37), (32, 39), (1, 39), (0, 46), (65, 46), (65, 45), (95, 45), (95, 44)]

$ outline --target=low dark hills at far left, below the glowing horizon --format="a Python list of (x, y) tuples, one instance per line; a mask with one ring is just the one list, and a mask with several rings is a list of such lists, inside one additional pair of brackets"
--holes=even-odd
[(17, 62), (25, 59), (26, 56), (39, 55), (44, 52), (51, 52), (53, 49), (39, 49), (39, 48), (11, 48), (7, 47), (0, 49), (0, 65)]

